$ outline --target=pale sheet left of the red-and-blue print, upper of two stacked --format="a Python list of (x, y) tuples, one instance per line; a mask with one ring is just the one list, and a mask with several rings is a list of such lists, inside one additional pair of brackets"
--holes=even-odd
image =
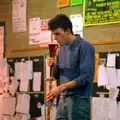
[(29, 34), (38, 34), (40, 33), (40, 18), (30, 18), (29, 21)]

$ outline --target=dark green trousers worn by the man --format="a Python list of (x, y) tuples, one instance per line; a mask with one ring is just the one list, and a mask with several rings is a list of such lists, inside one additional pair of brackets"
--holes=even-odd
[(61, 97), (56, 120), (90, 120), (90, 98), (80, 95)]

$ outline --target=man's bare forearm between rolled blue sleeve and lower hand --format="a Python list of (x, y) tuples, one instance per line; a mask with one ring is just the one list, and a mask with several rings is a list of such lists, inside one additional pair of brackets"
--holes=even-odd
[(73, 80), (73, 81), (60, 85), (59, 88), (60, 88), (60, 91), (63, 92), (65, 90), (72, 89), (76, 86), (77, 86), (76, 81)]

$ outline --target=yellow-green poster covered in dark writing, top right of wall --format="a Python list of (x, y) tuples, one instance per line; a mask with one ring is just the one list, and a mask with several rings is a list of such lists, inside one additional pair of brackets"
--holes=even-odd
[(120, 23), (120, 0), (85, 0), (84, 26)]

